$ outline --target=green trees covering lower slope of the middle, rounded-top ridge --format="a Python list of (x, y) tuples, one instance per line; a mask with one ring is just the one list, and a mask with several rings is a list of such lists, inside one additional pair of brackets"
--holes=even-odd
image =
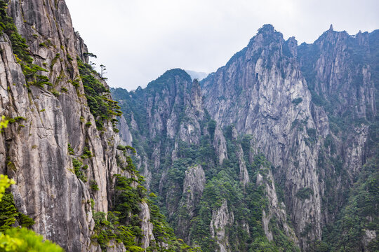
[[(241, 144), (247, 153), (251, 149), (251, 136), (244, 136), (239, 141), (232, 141), (232, 134), (226, 132), (227, 151), (229, 160), (215, 173), (204, 188), (203, 196), (199, 202), (197, 216), (192, 219), (190, 231), (192, 242), (199, 244), (203, 251), (216, 251), (218, 244), (211, 237), (209, 226), (212, 214), (227, 202), (228, 211), (233, 212), (234, 220), (244, 220), (250, 229), (248, 232), (238, 224), (238, 221), (227, 226), (225, 236), (228, 237), (232, 251), (299, 251), (298, 247), (284, 235), (280, 221), (274, 216), (270, 222), (270, 230), (274, 234), (274, 241), (268, 241), (262, 228), (262, 211), (268, 211), (268, 200), (265, 195), (265, 186), (258, 186), (251, 182), (242, 188), (239, 183), (239, 160), (235, 155), (236, 144)], [(247, 154), (246, 153), (246, 154)], [(263, 178), (268, 174), (272, 165), (264, 155), (255, 155), (253, 163), (245, 157), (251, 181), (261, 174)]]

